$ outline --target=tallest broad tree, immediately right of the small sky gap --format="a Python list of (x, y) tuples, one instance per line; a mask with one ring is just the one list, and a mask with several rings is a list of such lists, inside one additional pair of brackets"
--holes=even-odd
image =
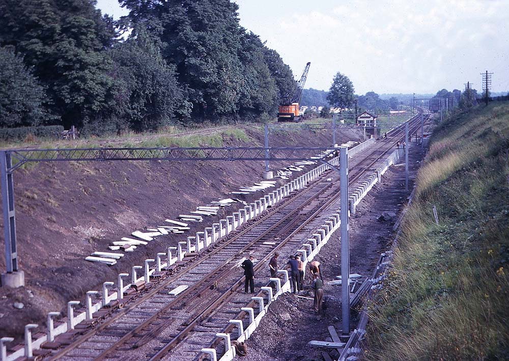
[(216, 119), (235, 113), (243, 82), (240, 25), (229, 0), (125, 0), (135, 23), (149, 25), (162, 42), (163, 57), (174, 64), (192, 115)]

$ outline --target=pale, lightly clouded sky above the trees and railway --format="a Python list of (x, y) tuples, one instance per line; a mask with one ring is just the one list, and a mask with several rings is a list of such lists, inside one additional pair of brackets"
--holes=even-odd
[[(240, 24), (275, 49), (305, 87), (328, 90), (337, 72), (356, 94), (509, 91), (507, 0), (236, 0)], [(116, 0), (98, 7), (126, 15)]]

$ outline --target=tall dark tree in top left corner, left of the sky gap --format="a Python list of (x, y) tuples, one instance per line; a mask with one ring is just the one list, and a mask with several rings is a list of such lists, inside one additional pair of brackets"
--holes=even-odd
[(93, 0), (3, 0), (0, 45), (24, 55), (47, 87), (50, 108), (66, 126), (80, 125), (110, 105), (110, 18)]

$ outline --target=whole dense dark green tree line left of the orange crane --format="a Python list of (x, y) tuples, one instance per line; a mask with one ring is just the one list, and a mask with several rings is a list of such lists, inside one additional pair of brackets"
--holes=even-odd
[[(239, 25), (230, 0), (0, 0), (0, 127), (85, 133), (274, 116), (292, 92), (279, 54)], [(116, 29), (132, 29), (120, 41)]]

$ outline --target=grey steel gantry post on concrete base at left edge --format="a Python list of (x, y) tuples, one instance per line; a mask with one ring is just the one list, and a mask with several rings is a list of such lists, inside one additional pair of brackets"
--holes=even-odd
[(14, 213), (14, 183), (12, 172), (11, 154), (0, 151), (0, 167), (2, 182), (2, 207), (4, 209), (4, 241), (5, 241), (5, 263), (7, 273), (18, 270), (18, 254), (16, 249), (16, 218)]

